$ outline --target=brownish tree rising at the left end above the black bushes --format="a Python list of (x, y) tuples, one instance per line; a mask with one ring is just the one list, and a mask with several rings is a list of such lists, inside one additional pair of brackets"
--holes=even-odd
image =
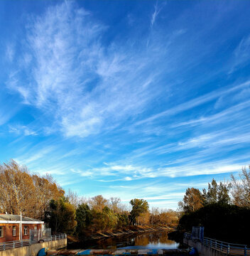
[(202, 208), (204, 199), (202, 193), (197, 188), (188, 188), (185, 192), (183, 201), (178, 203), (178, 206), (185, 212), (193, 212)]

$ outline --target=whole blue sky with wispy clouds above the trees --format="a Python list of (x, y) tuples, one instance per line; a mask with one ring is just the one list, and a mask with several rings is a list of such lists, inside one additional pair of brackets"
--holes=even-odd
[(249, 1), (0, 1), (0, 161), (173, 208), (249, 164)]

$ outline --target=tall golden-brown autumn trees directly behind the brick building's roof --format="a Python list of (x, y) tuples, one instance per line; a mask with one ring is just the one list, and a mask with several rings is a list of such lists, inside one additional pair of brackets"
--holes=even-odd
[(58, 199), (64, 191), (49, 175), (31, 175), (26, 166), (16, 161), (0, 165), (0, 212), (44, 219), (51, 199)]

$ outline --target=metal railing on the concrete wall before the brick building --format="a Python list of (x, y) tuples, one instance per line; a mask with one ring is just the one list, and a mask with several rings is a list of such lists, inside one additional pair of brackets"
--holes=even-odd
[(16, 240), (16, 241), (9, 241), (9, 242), (0, 242), (0, 251), (29, 246), (29, 245), (33, 245), (38, 242), (55, 241), (55, 240), (60, 240), (60, 239), (65, 239), (65, 238), (67, 238), (66, 234), (58, 234), (58, 235), (51, 235), (50, 238), (47, 238), (44, 240), (42, 239), (42, 240), (31, 241), (29, 239), (26, 239), (26, 240)]

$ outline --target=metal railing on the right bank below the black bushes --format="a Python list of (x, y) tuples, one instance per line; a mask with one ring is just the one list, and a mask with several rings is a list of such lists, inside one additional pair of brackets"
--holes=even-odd
[[(192, 234), (190, 233), (185, 233), (184, 238), (190, 240), (193, 239)], [(239, 245), (231, 242), (222, 242), (212, 238), (203, 238), (202, 240), (200, 240), (200, 242), (202, 242), (202, 245), (213, 248), (214, 250), (219, 250), (220, 252), (224, 252), (227, 255), (250, 255), (250, 248), (248, 248), (246, 245)]]

